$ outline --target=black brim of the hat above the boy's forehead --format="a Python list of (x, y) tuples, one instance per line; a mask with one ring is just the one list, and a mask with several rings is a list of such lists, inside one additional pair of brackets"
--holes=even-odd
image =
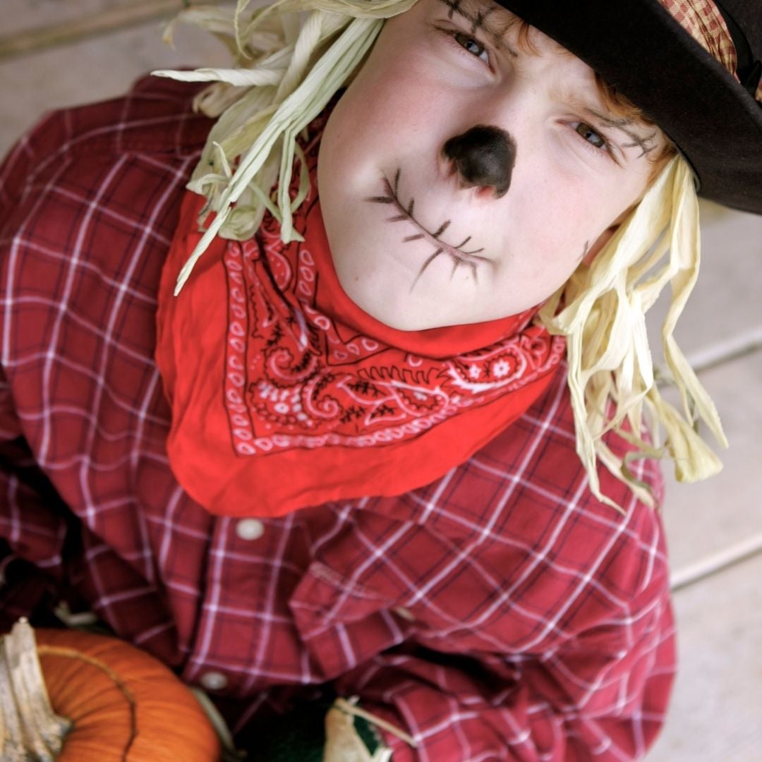
[(658, 0), (498, 2), (654, 120), (693, 166), (700, 195), (762, 213), (762, 107)]

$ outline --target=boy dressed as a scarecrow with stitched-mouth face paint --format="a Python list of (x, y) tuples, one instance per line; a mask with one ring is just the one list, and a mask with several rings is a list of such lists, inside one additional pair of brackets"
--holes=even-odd
[[(213, 219), (183, 199), (210, 123), (178, 85), (54, 116), (8, 159), (4, 616), (44, 621), (61, 598), (92, 608), (213, 693), (252, 749), (274, 714), (293, 723), (335, 692), (411, 734), (415, 751), (382, 731), (395, 760), (642, 757), (674, 670), (664, 539), (645, 504), (660, 480), (626, 456), (655, 450), (643, 400), (684, 468), (711, 464), (648, 385), (642, 306), (617, 279), (664, 224), (677, 255), (661, 280), (679, 301), (693, 277), (690, 251), (680, 261), (693, 178), (665, 164), (674, 143), (711, 197), (762, 210), (759, 66), (742, 43), (760, 54), (758, 14), (689, 3), (678, 24), (669, 3), (640, 2), (613, 34), (603, 2), (386, 5), (404, 12), (346, 93), (293, 109), (317, 110), (278, 207), (257, 191), (277, 157), (236, 163), (267, 136), (238, 106), (256, 89), (194, 173)], [(303, 46), (333, 18), (313, 14)], [(696, 18), (712, 22), (698, 41), (680, 25)], [(630, 56), (628, 76), (632, 29), (671, 50)], [(347, 56), (363, 59), (362, 34)], [(740, 82), (706, 52), (717, 40)], [(284, 114), (298, 78), (282, 84), (293, 69), (275, 50)], [(693, 111), (649, 96), (651, 56), (705, 78), (744, 162), (714, 110), (696, 107), (709, 123), (696, 130)], [(584, 59), (629, 82), (658, 126)], [(256, 162), (263, 174), (246, 176)], [(289, 190), (304, 199), (293, 210)], [(228, 238), (203, 236), (199, 216)], [(599, 437), (606, 402), (629, 421), (620, 435)]]

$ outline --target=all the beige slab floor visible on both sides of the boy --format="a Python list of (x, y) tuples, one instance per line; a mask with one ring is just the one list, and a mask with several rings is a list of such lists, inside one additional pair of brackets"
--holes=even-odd
[[(3, 0), (2, 37), (37, 48), (0, 58), (0, 153), (53, 107), (120, 94), (157, 67), (225, 65), (216, 40), (178, 34), (178, 52), (147, 18), (181, 0)], [(125, 14), (123, 11), (130, 11)], [(114, 13), (114, 16), (109, 14)], [(132, 18), (128, 18), (128, 17)], [(55, 37), (93, 18), (94, 36)], [(28, 34), (42, 27), (57, 34)], [(0, 40), (0, 56), (3, 51)], [(703, 206), (703, 268), (677, 338), (719, 408), (731, 447), (722, 474), (671, 483), (664, 509), (680, 639), (680, 674), (651, 762), (762, 760), (762, 217)], [(655, 308), (658, 312), (658, 306)], [(658, 315), (652, 321), (656, 325)], [(760, 575), (759, 577), (757, 575)]]

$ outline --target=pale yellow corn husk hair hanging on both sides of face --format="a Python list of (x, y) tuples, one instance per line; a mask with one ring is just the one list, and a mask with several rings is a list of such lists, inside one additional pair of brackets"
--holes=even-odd
[[(235, 10), (195, 6), (179, 14), (177, 20), (223, 39), (235, 63), (230, 69), (153, 72), (186, 82), (214, 82), (200, 92), (195, 105), (219, 117), (188, 184), (207, 197), (202, 216), (209, 210), (217, 214), (179, 274), (175, 294), (215, 235), (248, 239), (265, 210), (279, 220), (284, 242), (299, 239), (292, 213), (304, 200), (309, 179), (303, 171), (299, 194), (291, 200), (291, 173), (299, 155), (296, 137), (350, 81), (383, 19), (414, 4), (276, 0), (252, 10), (249, 0), (239, 0)], [(173, 26), (168, 27), (169, 40)], [(276, 182), (278, 190), (272, 194)], [(647, 504), (654, 503), (653, 496), (630, 469), (633, 458), (668, 454), (681, 482), (704, 479), (722, 468), (698, 434), (703, 421), (727, 447), (719, 416), (673, 335), (699, 262), (693, 175), (678, 155), (593, 264), (581, 265), (539, 312), (537, 319), (552, 334), (567, 339), (577, 453), (591, 491), (613, 507), (618, 506), (600, 490), (599, 462)], [(661, 341), (681, 410), (661, 397), (645, 328), (645, 312), (667, 286), (670, 305)], [(632, 443), (635, 452), (616, 456), (604, 440), (609, 430)]]

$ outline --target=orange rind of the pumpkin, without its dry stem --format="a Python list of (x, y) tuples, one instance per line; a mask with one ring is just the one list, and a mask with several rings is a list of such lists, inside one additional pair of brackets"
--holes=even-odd
[(34, 637), (50, 706), (72, 721), (58, 762), (219, 760), (219, 738), (200, 703), (157, 659), (87, 632), (36, 629)]

